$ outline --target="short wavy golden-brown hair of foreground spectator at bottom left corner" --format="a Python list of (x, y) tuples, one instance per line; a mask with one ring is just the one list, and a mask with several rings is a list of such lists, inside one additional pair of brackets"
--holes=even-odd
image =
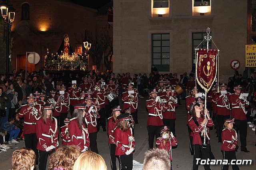
[(36, 164), (36, 154), (31, 148), (21, 148), (12, 153), (12, 170), (30, 170)]

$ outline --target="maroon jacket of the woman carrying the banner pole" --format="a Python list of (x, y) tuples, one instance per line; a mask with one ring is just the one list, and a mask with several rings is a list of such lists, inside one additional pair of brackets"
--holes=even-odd
[[(204, 127), (201, 126), (202, 121), (204, 121), (204, 118), (202, 118), (202, 117), (199, 117), (197, 119), (199, 127), (196, 125), (196, 123), (194, 122), (194, 119), (192, 117), (191, 117), (190, 121), (188, 122), (188, 126), (190, 127), (190, 129), (193, 132), (193, 142), (192, 142), (193, 144), (202, 145), (202, 140), (200, 137), (200, 132), (202, 135), (204, 135)], [(212, 119), (209, 119), (206, 124), (206, 129), (207, 129), (206, 130), (207, 131), (206, 138), (207, 138), (207, 136), (210, 137), (210, 130), (208, 127), (212, 127), (212, 126), (213, 126)], [(210, 138), (208, 138), (208, 139), (209, 139), (208, 144), (210, 144)]]

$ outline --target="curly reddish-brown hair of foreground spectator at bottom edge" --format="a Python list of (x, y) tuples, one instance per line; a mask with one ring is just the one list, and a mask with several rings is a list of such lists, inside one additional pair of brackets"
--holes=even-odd
[(62, 145), (50, 156), (49, 170), (62, 167), (72, 170), (75, 161), (80, 156), (80, 149), (75, 145)]

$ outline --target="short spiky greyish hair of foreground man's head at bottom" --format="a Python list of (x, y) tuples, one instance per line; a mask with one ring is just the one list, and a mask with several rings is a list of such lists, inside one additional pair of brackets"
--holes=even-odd
[(154, 148), (145, 153), (142, 170), (170, 170), (171, 162), (165, 150)]

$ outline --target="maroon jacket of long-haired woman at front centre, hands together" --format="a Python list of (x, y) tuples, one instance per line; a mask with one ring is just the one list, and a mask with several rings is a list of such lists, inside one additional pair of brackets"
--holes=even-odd
[(120, 130), (119, 128), (116, 128), (114, 130), (114, 136), (117, 156), (125, 155), (125, 152), (130, 148), (133, 148), (135, 150), (135, 140), (131, 128), (127, 127), (127, 130), (124, 132), (122, 132), (122, 130)]

